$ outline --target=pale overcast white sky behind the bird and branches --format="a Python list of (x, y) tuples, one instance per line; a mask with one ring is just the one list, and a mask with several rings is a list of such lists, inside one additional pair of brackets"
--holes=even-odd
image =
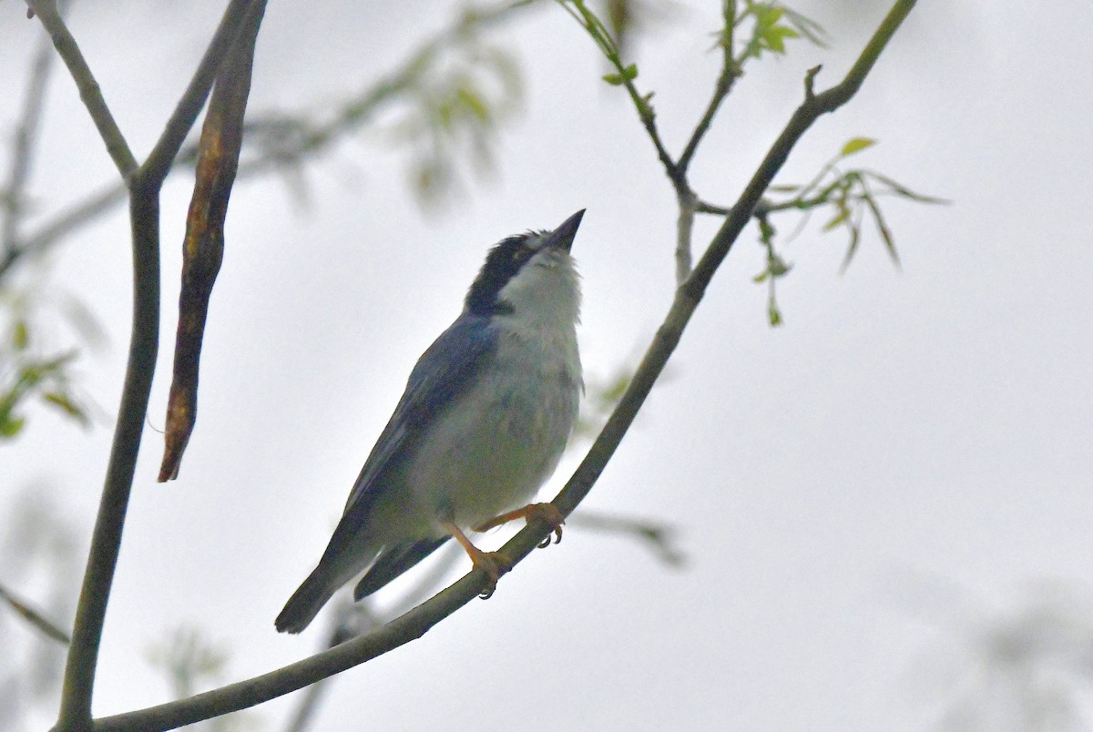
[[(393, 68), (454, 5), (410, 4), (271, 3), (250, 108), (336, 101)], [(73, 33), (138, 156), (221, 5), (78, 4)], [(678, 3), (637, 48), (639, 87), (657, 92), (673, 152), (716, 73), (716, 5)], [(820, 87), (841, 79), (888, 5), (795, 4), (826, 26), (832, 48), (798, 42), (751, 68), (694, 165), (704, 198), (736, 198), (799, 103), (804, 70), (825, 64)], [(40, 33), (22, 15), (21, 3), (0, 4), (5, 133)], [(96, 715), (166, 700), (144, 658), (179, 624), (231, 651), (232, 681), (316, 650), (321, 622), (289, 637), (273, 617), (318, 559), (410, 368), (458, 314), (487, 246), (587, 208), (574, 248), (587, 374), (607, 376), (651, 338), (671, 296), (675, 215), (651, 145), (560, 10), (505, 33), (525, 107), (502, 133), (496, 175), (442, 215), (415, 206), (404, 155), (374, 132), (307, 167), (306, 206), (274, 178), (237, 187), (178, 481), (155, 484), (162, 438), (145, 429)], [(573, 528), (489, 602), (343, 674), (316, 729), (922, 729), (945, 698), (942, 672), (973, 663), (951, 645), (964, 600), (987, 621), (1045, 578), (1081, 593), (1093, 572), (1091, 35), (1086, 2), (921, 2), (779, 181), (803, 181), (866, 135), (881, 144), (854, 164), (954, 203), (885, 201), (902, 273), (869, 231), (839, 276), (845, 238), (821, 236), (815, 216), (784, 247), (795, 269), (779, 287), (779, 329), (765, 322), (765, 286), (751, 283), (763, 252), (749, 228), (586, 503), (677, 527), (686, 569)], [(33, 192), (48, 211), (113, 166), (63, 74), (47, 114)], [(164, 199), (157, 426), (189, 186), (174, 178)], [(715, 224), (703, 220), (696, 241)], [(109, 334), (81, 370), (113, 414), (129, 323), (124, 212), (52, 261), (51, 282)], [(3, 510), (48, 486), (86, 541), (109, 439), (106, 418), (84, 433), (35, 411), (0, 451)], [(0, 623), (7, 637), (28, 633)], [(293, 705), (250, 717), (278, 729)]]

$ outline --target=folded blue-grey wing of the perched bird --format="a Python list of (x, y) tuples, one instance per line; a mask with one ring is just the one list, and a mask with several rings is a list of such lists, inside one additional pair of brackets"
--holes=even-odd
[(343, 520), (350, 512), (362, 519), (367, 515), (387, 472), (401, 464), (433, 417), (475, 377), (496, 345), (497, 331), (489, 319), (467, 312), (433, 341), (410, 373), (395, 414), (361, 469)]

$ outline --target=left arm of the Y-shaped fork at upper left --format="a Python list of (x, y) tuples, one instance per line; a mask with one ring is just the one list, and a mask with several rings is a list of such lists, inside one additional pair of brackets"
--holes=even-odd
[(42, 21), (43, 27), (49, 33), (49, 38), (54, 42), (54, 47), (60, 55), (61, 60), (64, 61), (64, 66), (68, 67), (69, 73), (72, 74), (72, 80), (75, 82), (77, 88), (80, 90), (80, 98), (83, 101), (83, 105), (87, 108), (91, 119), (95, 122), (99, 137), (106, 143), (106, 152), (110, 154), (110, 160), (114, 161), (114, 165), (117, 166), (121, 177), (128, 179), (137, 169), (137, 158), (133, 157), (132, 152), (129, 150), (129, 143), (126, 142), (125, 135), (121, 134), (117, 122), (114, 121), (114, 115), (110, 113), (109, 107), (106, 106), (106, 99), (103, 98), (103, 92), (98, 87), (98, 82), (95, 81), (94, 74), (91, 73), (91, 68), (84, 60), (83, 54), (75, 43), (75, 38), (69, 33), (68, 26), (64, 25), (60, 13), (57, 12), (57, 3), (55, 0), (26, 0), (26, 4), (34, 11), (34, 14)]

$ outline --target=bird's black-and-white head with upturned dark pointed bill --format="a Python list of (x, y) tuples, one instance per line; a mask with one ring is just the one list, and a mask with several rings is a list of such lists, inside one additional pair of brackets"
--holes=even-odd
[(553, 232), (526, 232), (497, 244), (467, 293), (467, 311), (527, 324), (576, 322), (580, 286), (569, 249), (584, 215), (578, 211)]

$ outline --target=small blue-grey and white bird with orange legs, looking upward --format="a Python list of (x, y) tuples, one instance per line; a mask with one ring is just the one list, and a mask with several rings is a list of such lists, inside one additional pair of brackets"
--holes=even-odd
[(362, 572), (354, 600), (450, 539), (485, 570), (490, 597), (510, 566), (475, 547), (469, 529), (539, 520), (561, 540), (562, 513), (528, 501), (557, 467), (584, 392), (571, 255), (584, 214), (490, 249), (459, 317), (411, 370), (322, 557), (274, 621), (278, 631), (301, 633)]

